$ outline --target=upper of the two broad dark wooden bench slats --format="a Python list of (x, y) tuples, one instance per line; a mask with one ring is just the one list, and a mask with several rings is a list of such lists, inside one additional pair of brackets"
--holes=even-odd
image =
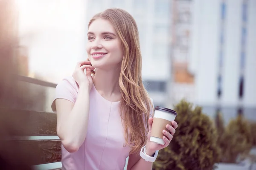
[(57, 135), (56, 113), (0, 108), (0, 119), (15, 125), (9, 128), (9, 134), (14, 136)]

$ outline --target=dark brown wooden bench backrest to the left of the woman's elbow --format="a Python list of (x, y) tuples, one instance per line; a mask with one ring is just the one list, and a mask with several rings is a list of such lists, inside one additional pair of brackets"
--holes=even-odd
[[(55, 84), (18, 76), (19, 91), (12, 102), (0, 107), (0, 159), (44, 170), (61, 170), (61, 141), (57, 136), (56, 113), (44, 110), (47, 90)], [(41, 92), (39, 92), (41, 90)], [(51, 96), (51, 95), (50, 95)], [(52, 100), (51, 97), (48, 100)], [(0, 101), (3, 104), (3, 101)], [(1, 164), (1, 160), (0, 160)], [(56, 169), (57, 168), (57, 169)], [(8, 168), (7, 168), (8, 169)]]

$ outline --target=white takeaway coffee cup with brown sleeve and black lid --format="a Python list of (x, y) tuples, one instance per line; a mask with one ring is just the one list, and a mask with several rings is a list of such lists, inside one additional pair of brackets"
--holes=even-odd
[(158, 144), (165, 144), (163, 141), (163, 130), (169, 132), (169, 130), (166, 129), (166, 125), (172, 125), (172, 121), (174, 121), (176, 116), (177, 112), (174, 110), (162, 108), (160, 106), (155, 107), (150, 141)]

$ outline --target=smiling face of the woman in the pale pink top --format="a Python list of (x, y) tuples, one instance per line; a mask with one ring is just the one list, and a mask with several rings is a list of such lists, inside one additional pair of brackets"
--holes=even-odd
[(88, 29), (86, 51), (92, 66), (100, 69), (118, 67), (123, 59), (121, 41), (108, 20), (96, 19)]

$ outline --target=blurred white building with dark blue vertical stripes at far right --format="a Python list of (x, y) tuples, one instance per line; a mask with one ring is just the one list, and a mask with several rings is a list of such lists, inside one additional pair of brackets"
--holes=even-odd
[(256, 119), (256, 1), (194, 0), (189, 71), (194, 102), (225, 122), (242, 111)]

